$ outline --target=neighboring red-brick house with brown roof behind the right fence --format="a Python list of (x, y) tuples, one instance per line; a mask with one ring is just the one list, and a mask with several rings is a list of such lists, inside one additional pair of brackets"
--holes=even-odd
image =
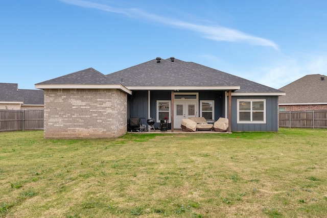
[(287, 93), (279, 98), (279, 111), (327, 110), (327, 77), (307, 75), (279, 90)]

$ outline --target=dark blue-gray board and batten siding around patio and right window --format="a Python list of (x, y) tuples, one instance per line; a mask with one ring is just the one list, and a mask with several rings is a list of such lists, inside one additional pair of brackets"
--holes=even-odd
[[(196, 91), (182, 91), (196, 92)], [(199, 105), (201, 100), (215, 101), (215, 119), (224, 117), (224, 92), (199, 91)], [(266, 124), (237, 124), (237, 100), (238, 99), (265, 99), (266, 100)], [(148, 119), (148, 91), (133, 91), (128, 98), (128, 117)], [(151, 91), (150, 94), (150, 117), (157, 119), (157, 100), (171, 101), (171, 91)], [(198, 105), (198, 106), (199, 106)], [(227, 104), (228, 105), (228, 104)], [(232, 131), (278, 131), (278, 96), (232, 96)], [(200, 110), (200, 107), (198, 108)], [(200, 111), (199, 111), (200, 112)], [(228, 116), (227, 116), (228, 118)], [(146, 120), (141, 120), (146, 124)], [(158, 124), (157, 124), (158, 125)], [(156, 125), (156, 126), (157, 126)]]

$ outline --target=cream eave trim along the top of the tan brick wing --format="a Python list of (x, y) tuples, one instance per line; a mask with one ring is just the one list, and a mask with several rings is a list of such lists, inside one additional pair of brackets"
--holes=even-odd
[(120, 84), (35, 84), (37, 89), (120, 89), (132, 94), (132, 91)]

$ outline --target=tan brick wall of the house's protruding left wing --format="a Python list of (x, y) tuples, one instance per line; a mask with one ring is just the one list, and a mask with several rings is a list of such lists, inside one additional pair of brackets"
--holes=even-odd
[(45, 89), (44, 138), (115, 138), (127, 131), (118, 89)]

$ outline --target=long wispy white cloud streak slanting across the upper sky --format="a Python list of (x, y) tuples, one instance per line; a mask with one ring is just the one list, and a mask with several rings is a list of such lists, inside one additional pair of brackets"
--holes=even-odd
[(139, 9), (134, 8), (117, 8), (109, 5), (98, 4), (83, 0), (60, 0), (61, 2), (77, 5), (85, 8), (94, 8), (110, 13), (120, 13), (126, 16), (135, 17), (139, 19), (147, 19), (152, 22), (164, 23), (174, 28), (181, 28), (199, 33), (202, 37), (214, 41), (229, 41), (229, 42), (242, 42), (253, 45), (271, 46), (278, 50), (278, 46), (271, 40), (252, 36), (241, 31), (219, 26), (198, 25), (191, 22), (186, 22), (178, 19), (171, 19), (167, 17), (151, 14)]

